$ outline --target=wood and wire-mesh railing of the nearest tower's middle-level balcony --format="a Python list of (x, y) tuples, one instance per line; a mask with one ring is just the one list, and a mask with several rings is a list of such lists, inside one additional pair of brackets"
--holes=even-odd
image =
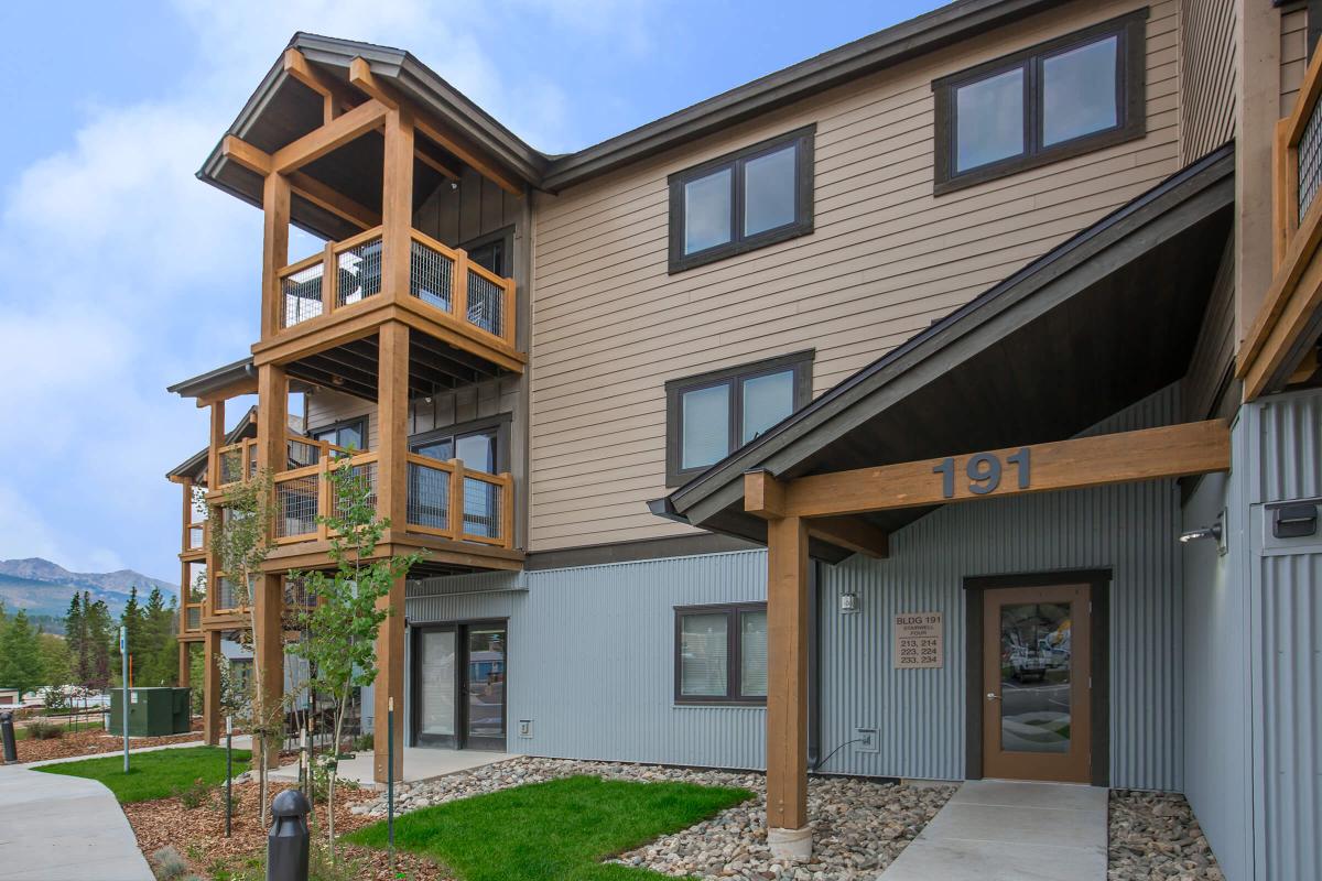
[[(330, 469), (341, 458), (321, 456), (312, 465), (276, 474), (275, 542), (325, 540), (329, 531), (321, 516), (334, 505)], [(349, 465), (371, 487), (375, 501), (377, 453), (354, 453)], [(513, 547), (512, 503), (514, 485), (509, 474), (488, 474), (464, 468), (459, 460), (440, 461), (410, 454), (406, 530), (457, 542)]]

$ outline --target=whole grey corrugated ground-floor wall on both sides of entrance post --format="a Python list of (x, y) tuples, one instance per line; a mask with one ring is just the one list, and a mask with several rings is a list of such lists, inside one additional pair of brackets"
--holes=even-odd
[[(1177, 405), (1171, 388), (1096, 431), (1167, 424)], [(822, 565), (821, 752), (882, 732), (879, 754), (845, 748), (824, 771), (962, 778), (962, 579), (1109, 568), (1112, 779), (1181, 789), (1179, 528), (1179, 490), (1161, 481), (947, 506), (896, 532), (890, 560)], [(410, 586), (407, 616), (509, 618), (512, 752), (761, 767), (764, 711), (673, 704), (673, 608), (763, 600), (765, 565), (748, 551), (438, 579)], [(861, 613), (837, 612), (845, 590)], [(929, 610), (945, 613), (945, 666), (892, 670), (891, 616)]]

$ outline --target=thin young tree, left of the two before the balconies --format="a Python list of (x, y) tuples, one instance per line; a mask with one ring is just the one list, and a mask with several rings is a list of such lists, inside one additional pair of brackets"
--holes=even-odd
[[(264, 689), (266, 675), (258, 658), (264, 646), (259, 645), (256, 604), (253, 585), (262, 577), (262, 563), (271, 552), (272, 485), (268, 472), (229, 487), (225, 501), (210, 515), (212, 553), (219, 563), (219, 572), (234, 585), (235, 605), (249, 610), (249, 629), (242, 634), (246, 647), (253, 651), (253, 678), (250, 682), (250, 719), (253, 725), (253, 758), (258, 769), (262, 826), (266, 827), (267, 766), (272, 734), (284, 729), (284, 701), (268, 700)], [(280, 638), (280, 634), (276, 634)], [(276, 686), (279, 689), (280, 686)]]

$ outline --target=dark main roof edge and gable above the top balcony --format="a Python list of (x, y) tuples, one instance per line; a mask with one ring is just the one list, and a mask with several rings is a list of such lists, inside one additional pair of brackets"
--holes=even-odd
[[(925, 15), (731, 88), (575, 153), (534, 149), (435, 71), (402, 49), (299, 32), (290, 46), (348, 83), (349, 65), (364, 58), (374, 77), (389, 81), (419, 106), (443, 118), (460, 140), (479, 148), (529, 186), (561, 190), (628, 162), (689, 143), (735, 123), (808, 98), (858, 77), (949, 46), (1066, 0), (956, 0)], [(267, 71), (227, 133), (274, 151), (321, 124), (311, 90), (287, 75), (282, 62)], [(250, 203), (260, 205), (260, 178), (227, 161), (217, 144), (197, 176)], [(295, 206), (295, 222), (316, 232), (337, 231), (338, 221), (312, 205)]]

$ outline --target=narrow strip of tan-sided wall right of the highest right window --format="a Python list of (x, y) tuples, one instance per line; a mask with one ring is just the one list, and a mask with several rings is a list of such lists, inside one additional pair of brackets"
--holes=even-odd
[(1235, 137), (1235, 0), (1181, 0), (1181, 162)]

